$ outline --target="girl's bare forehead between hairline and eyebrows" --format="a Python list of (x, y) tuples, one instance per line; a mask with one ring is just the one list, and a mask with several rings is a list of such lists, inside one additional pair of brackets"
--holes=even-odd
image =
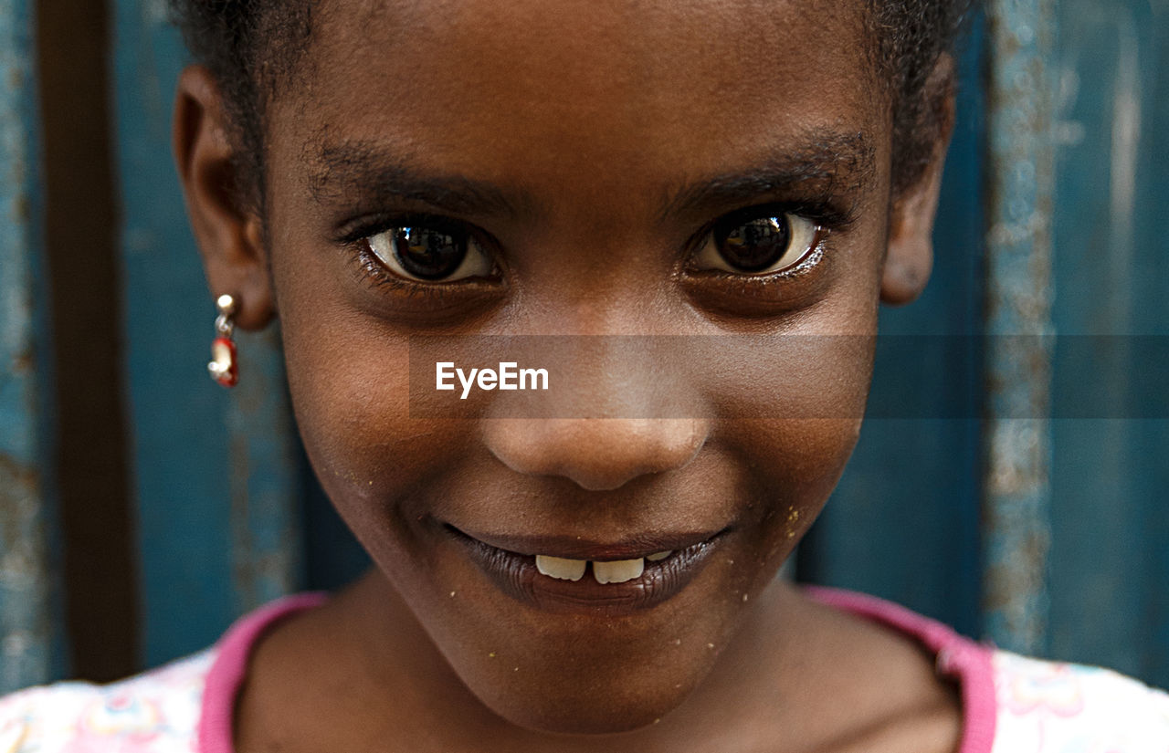
[[(887, 106), (849, 0), (337, 0), (270, 134), (597, 190), (860, 133)], [(292, 118), (279, 114), (295, 113)], [(887, 128), (885, 128), (887, 130)], [(878, 131), (874, 133), (874, 131)], [(358, 152), (354, 152), (358, 153)], [(580, 186), (587, 190), (589, 186)]]

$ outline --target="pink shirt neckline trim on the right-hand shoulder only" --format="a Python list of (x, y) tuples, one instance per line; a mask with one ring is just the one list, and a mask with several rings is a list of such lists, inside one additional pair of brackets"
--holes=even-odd
[(949, 626), (877, 597), (821, 586), (808, 586), (804, 591), (821, 604), (909, 635), (936, 654), (938, 671), (954, 677), (961, 686), (962, 742), (959, 753), (990, 753), (998, 718), (991, 647), (975, 643)]

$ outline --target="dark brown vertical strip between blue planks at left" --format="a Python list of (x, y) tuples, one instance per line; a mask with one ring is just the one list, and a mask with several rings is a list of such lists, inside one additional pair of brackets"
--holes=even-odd
[(108, 20), (105, 0), (37, 0), (42, 247), (53, 291), (54, 496), (71, 674), (90, 681), (118, 679), (137, 665)]

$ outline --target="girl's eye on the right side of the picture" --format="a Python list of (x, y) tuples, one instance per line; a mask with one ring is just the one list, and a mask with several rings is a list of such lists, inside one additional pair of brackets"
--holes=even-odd
[(694, 257), (694, 267), (774, 274), (808, 256), (818, 233), (818, 225), (791, 212), (759, 208), (734, 212), (714, 224), (710, 240)]

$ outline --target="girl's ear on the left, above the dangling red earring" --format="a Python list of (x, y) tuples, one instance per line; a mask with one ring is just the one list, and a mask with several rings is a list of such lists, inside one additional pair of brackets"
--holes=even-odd
[(210, 72), (198, 65), (184, 70), (172, 146), (207, 283), (212, 298), (230, 293), (236, 299), (236, 326), (261, 329), (274, 314), (263, 224), (240, 190), (229, 133)]

